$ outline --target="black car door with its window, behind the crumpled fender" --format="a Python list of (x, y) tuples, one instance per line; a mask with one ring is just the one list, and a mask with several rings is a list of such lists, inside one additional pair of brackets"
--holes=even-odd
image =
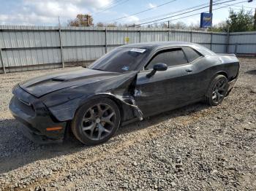
[[(155, 63), (167, 64), (166, 71), (157, 71), (147, 77)], [(181, 47), (159, 50), (138, 73), (135, 101), (144, 116), (150, 116), (186, 105), (192, 82), (189, 75), (193, 66), (188, 63)]]

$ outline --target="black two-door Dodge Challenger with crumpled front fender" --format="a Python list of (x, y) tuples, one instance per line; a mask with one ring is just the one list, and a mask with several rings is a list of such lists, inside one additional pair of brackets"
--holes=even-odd
[(217, 106), (239, 73), (235, 55), (187, 42), (117, 47), (88, 68), (29, 79), (16, 85), (13, 116), (30, 139), (86, 145), (107, 141), (120, 125), (197, 101)]

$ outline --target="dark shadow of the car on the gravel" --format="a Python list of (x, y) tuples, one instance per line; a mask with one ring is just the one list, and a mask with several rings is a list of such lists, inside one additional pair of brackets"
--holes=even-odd
[[(189, 115), (206, 108), (208, 108), (206, 104), (197, 103), (184, 106), (181, 109), (164, 112), (141, 122), (134, 122), (130, 125), (122, 126), (118, 129), (116, 136), (142, 130), (149, 125), (155, 125), (178, 116)], [(80, 144), (73, 136), (70, 136), (69, 139), (61, 144), (35, 144), (23, 136), (23, 133), (19, 129), (21, 127), (22, 125), (14, 119), (0, 120), (0, 174), (12, 171), (37, 160), (50, 159), (60, 155), (70, 155), (90, 148)], [(111, 144), (111, 139), (105, 144)]]

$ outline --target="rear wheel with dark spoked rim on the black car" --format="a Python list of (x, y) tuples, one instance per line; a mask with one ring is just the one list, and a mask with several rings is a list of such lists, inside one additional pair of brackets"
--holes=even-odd
[(210, 106), (217, 106), (222, 103), (227, 95), (227, 78), (221, 74), (214, 77), (206, 93), (206, 103)]

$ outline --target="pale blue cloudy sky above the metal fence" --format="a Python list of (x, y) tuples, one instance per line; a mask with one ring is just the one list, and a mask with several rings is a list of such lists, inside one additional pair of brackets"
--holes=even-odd
[[(224, 2), (228, 0), (216, 0)], [(230, 1), (225, 4), (215, 5), (213, 9), (226, 6), (228, 4), (239, 3), (243, 0)], [(161, 19), (162, 17), (177, 15), (180, 10), (195, 7), (201, 4), (208, 4), (209, 0), (0, 0), (0, 25), (35, 25), (35, 26), (57, 26), (59, 17), (61, 26), (67, 25), (67, 20), (72, 20), (78, 14), (92, 15), (95, 23), (146, 23), (151, 20)], [(160, 7), (157, 7), (161, 4)], [(251, 3), (244, 2), (233, 6), (235, 11), (244, 7), (246, 10), (255, 12), (256, 1)], [(144, 11), (137, 15), (137, 12)], [(213, 23), (217, 24), (226, 20), (230, 7), (213, 11)], [(192, 15), (200, 12), (207, 12), (208, 7), (187, 13)], [(132, 16), (129, 16), (132, 15)], [(161, 16), (162, 17), (159, 17)], [(187, 25), (197, 24), (200, 21), (200, 14), (192, 17), (179, 15), (166, 20), (173, 20), (187, 23)], [(123, 17), (123, 18), (121, 18)], [(146, 20), (154, 17), (154, 19)], [(119, 20), (116, 20), (121, 18)], [(159, 20), (161, 22), (164, 20)], [(156, 23), (157, 23), (156, 22)]]

